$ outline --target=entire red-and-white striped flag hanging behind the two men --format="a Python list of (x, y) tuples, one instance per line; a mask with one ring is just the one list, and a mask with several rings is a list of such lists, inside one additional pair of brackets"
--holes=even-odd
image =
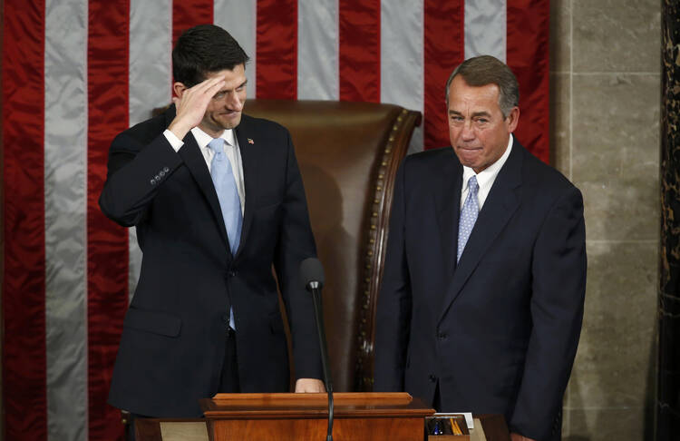
[(412, 152), (448, 144), (452, 68), (493, 54), (548, 161), (548, 0), (5, 0), (5, 439), (121, 437), (106, 396), (141, 253), (99, 211), (106, 156), (170, 103), (179, 34), (211, 22), (250, 55), (248, 96), (421, 111)]

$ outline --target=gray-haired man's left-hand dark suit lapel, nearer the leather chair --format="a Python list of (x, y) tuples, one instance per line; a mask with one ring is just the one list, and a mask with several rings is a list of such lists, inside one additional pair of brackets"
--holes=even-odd
[(460, 204), (462, 186), (462, 166), (455, 158), (453, 150), (450, 162), (446, 162), (441, 173), (441, 181), (436, 185), (438, 191), (432, 193), (434, 206), (439, 223), (440, 237), (442, 238), (442, 250), (446, 268), (449, 270), (447, 277), (451, 276), (456, 268), (456, 244), (458, 241), (458, 219), (460, 217)]

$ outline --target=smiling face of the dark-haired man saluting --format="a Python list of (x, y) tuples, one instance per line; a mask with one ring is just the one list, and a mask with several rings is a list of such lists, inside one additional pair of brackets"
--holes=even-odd
[(233, 129), (241, 122), (241, 112), (246, 103), (246, 70), (243, 64), (234, 70), (209, 73), (209, 78), (221, 77), (224, 87), (212, 97), (199, 127), (204, 132), (219, 135), (226, 129)]

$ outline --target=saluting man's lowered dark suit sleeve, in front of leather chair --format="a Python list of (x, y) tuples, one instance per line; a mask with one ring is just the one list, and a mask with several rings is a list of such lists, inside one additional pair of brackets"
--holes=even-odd
[(290, 324), (296, 378), (323, 378), (312, 297), (303, 288), (299, 276), (300, 263), (316, 256), (316, 245), (289, 133), (286, 142), (286, 194), (274, 263)]

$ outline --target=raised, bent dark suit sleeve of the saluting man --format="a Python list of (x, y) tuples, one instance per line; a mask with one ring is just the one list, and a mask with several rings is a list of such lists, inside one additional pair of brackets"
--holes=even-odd
[(99, 199), (103, 213), (123, 227), (136, 225), (162, 182), (181, 164), (161, 133), (151, 143), (122, 132), (109, 150), (108, 174)]

